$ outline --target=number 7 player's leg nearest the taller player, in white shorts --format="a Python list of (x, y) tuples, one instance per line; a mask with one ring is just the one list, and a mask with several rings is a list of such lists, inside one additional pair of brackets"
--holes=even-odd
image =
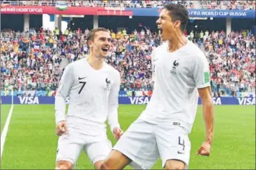
[(105, 139), (99, 142), (86, 144), (83, 149), (90, 161), (93, 163), (95, 169), (100, 169), (102, 162), (111, 152), (112, 144), (109, 139)]

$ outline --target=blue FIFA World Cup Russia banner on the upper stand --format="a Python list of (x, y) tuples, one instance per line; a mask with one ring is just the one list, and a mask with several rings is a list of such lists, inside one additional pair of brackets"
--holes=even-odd
[[(159, 8), (125, 8), (132, 10), (133, 16), (158, 17)], [(255, 18), (255, 10), (207, 10), (188, 9), (189, 17), (215, 17), (215, 18)]]

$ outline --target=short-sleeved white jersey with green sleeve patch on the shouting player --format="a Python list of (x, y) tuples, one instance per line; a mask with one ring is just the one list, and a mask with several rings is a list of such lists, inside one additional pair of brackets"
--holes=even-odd
[(190, 132), (198, 88), (210, 86), (207, 58), (193, 42), (173, 53), (166, 42), (152, 52), (152, 70), (154, 91), (139, 119), (166, 126), (178, 122)]

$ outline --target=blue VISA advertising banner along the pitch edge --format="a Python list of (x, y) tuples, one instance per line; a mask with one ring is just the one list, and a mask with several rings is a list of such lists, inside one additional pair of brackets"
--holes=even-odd
[[(150, 101), (150, 97), (119, 97), (119, 104), (127, 105), (145, 105)], [(14, 104), (54, 104), (54, 96), (13, 96)], [(214, 105), (255, 105), (255, 97), (218, 97), (213, 98)], [(1, 96), (1, 104), (11, 104), (12, 96)], [(67, 98), (66, 103), (69, 103)], [(201, 99), (199, 98), (198, 104), (202, 104)]]

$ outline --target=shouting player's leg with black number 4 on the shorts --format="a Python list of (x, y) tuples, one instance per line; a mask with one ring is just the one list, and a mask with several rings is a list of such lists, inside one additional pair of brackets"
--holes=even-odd
[(184, 128), (158, 126), (156, 138), (164, 169), (188, 169), (191, 143)]

